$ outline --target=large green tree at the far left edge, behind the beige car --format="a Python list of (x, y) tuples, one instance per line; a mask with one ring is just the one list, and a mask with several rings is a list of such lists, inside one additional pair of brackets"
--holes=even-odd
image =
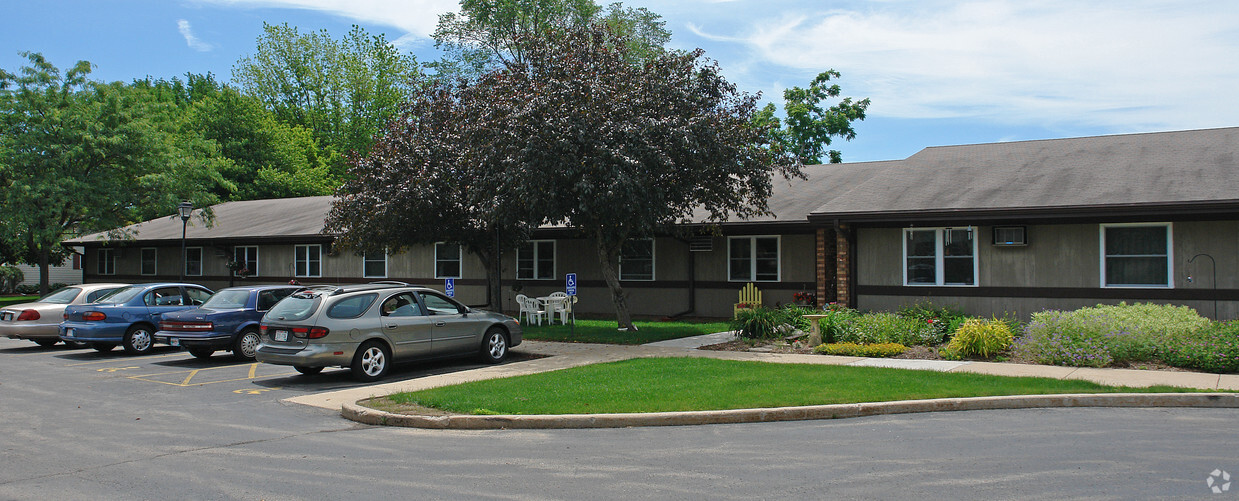
[(45, 293), (64, 237), (217, 201), (218, 148), (175, 104), (145, 86), (90, 82), (85, 61), (62, 73), (24, 56), (16, 73), (0, 69), (0, 239), (41, 268)]

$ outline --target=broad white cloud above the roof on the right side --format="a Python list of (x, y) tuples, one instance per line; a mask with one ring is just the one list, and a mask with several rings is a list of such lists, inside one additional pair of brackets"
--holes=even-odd
[(772, 71), (766, 82), (839, 69), (846, 95), (872, 98), (871, 115), (1129, 129), (1234, 125), (1239, 115), (1232, 94), (1239, 82), (1239, 9), (1229, 2), (891, 1), (809, 9), (750, 17), (738, 35), (689, 30), (720, 43), (740, 40), (760, 63), (753, 71)]

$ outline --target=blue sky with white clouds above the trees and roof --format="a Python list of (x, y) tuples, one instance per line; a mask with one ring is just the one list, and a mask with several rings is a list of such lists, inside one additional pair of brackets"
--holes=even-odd
[[(263, 22), (384, 33), (421, 61), (455, 0), (0, 0), (0, 68), (21, 51), (94, 78), (232, 77)], [(781, 102), (834, 68), (872, 99), (844, 161), (935, 145), (1239, 125), (1239, 2), (1154, 0), (632, 0), (672, 46), (701, 47), (747, 92)]]

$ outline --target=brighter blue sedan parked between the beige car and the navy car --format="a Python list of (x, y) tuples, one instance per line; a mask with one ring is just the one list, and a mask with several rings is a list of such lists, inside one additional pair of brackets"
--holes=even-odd
[(135, 284), (94, 303), (68, 305), (61, 340), (84, 342), (98, 351), (120, 345), (129, 353), (145, 353), (155, 345), (160, 316), (201, 305), (211, 289), (195, 284)]

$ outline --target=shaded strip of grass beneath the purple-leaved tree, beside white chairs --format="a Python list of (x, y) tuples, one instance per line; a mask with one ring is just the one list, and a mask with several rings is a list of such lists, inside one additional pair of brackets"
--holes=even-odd
[(674, 340), (679, 337), (700, 336), (703, 334), (725, 332), (731, 327), (727, 322), (688, 322), (688, 321), (637, 321), (636, 332), (620, 332), (615, 320), (577, 320), (572, 332), (569, 326), (520, 324), (520, 331), (527, 340), (601, 342), (607, 345), (644, 345), (647, 342)]

